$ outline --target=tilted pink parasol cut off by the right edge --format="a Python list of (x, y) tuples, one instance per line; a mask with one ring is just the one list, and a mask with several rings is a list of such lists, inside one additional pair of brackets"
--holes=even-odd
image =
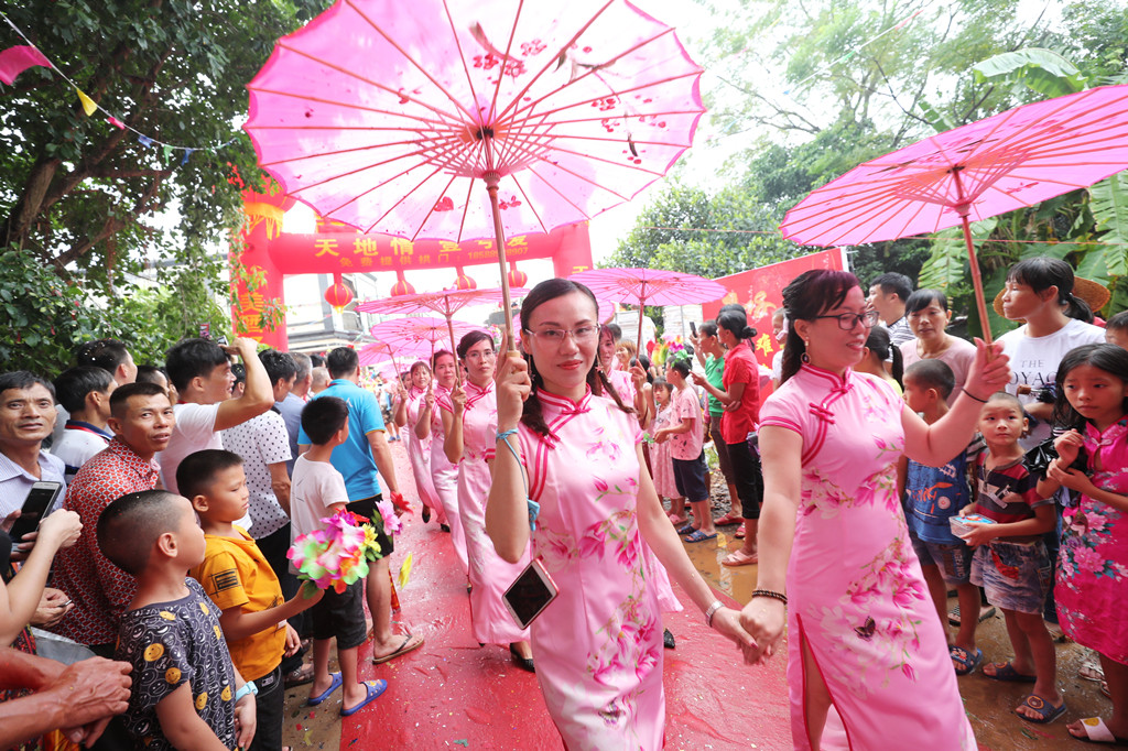
[(962, 224), (984, 334), (987, 302), (969, 222), (1025, 209), (1128, 168), (1128, 85), (1008, 109), (855, 167), (787, 212), (783, 236), (858, 245)]

